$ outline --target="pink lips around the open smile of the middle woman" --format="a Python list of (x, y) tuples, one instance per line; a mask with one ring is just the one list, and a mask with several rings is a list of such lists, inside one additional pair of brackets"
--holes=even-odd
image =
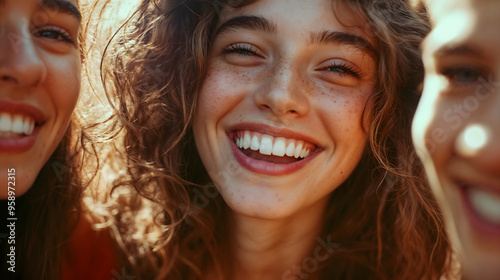
[[(285, 129), (275, 129), (265, 125), (256, 125), (256, 124), (239, 124), (231, 128), (231, 132), (228, 134), (229, 142), (231, 143), (231, 149), (233, 150), (234, 157), (239, 164), (241, 164), (246, 169), (263, 174), (263, 175), (272, 175), (272, 176), (280, 176), (294, 173), (304, 166), (306, 166), (309, 162), (311, 162), (321, 151), (322, 149), (317, 148), (314, 152), (312, 152), (308, 157), (292, 162), (292, 163), (273, 163), (263, 160), (257, 160), (245, 155), (240, 149), (236, 146), (236, 143), (233, 141), (232, 134), (234, 134), (237, 130), (251, 130), (257, 131), (260, 133), (272, 135), (275, 137), (286, 137), (296, 140), (303, 140), (310, 143), (314, 143), (314, 140), (311, 140), (310, 137), (301, 135), (296, 132), (292, 132)], [(317, 145), (316, 145), (317, 146)]]

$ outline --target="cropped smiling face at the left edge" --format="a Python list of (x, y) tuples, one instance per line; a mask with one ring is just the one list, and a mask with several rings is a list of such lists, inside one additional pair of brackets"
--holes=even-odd
[(67, 129), (80, 90), (76, 7), (0, 0), (0, 199), (7, 182), (16, 196), (31, 187)]

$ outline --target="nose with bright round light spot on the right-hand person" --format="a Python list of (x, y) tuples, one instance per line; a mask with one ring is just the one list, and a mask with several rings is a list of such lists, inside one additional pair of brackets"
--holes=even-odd
[(455, 141), (456, 153), (483, 173), (500, 176), (500, 95), (481, 101), (476, 116), (463, 127)]

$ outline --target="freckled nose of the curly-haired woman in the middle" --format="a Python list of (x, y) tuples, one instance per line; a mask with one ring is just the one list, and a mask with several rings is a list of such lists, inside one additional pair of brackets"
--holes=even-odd
[(309, 111), (308, 85), (300, 72), (292, 67), (270, 70), (264, 87), (254, 95), (254, 102), (263, 111), (275, 116), (301, 116)]

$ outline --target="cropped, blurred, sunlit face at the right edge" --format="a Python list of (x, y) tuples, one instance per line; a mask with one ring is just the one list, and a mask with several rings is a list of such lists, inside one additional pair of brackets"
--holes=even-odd
[(500, 1), (430, 3), (413, 138), (467, 279), (500, 277)]

